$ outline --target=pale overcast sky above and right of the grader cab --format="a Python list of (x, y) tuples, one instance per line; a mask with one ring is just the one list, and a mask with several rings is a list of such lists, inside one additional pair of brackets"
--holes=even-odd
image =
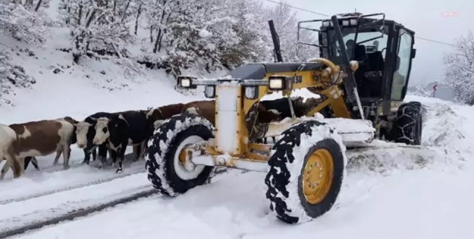
[[(265, 5), (276, 4), (263, 2)], [(287, 3), (327, 15), (354, 12), (355, 9), (363, 14), (384, 12), (386, 19), (395, 20), (414, 30), (415, 36), (447, 43), (453, 43), (455, 38), (465, 35), (469, 30), (474, 31), (473, 0), (287, 0)], [(296, 11), (300, 20), (326, 18)], [(415, 48), (417, 56), (412, 63), (410, 82), (436, 81), (445, 70), (443, 54), (452, 51), (453, 47), (415, 38)]]

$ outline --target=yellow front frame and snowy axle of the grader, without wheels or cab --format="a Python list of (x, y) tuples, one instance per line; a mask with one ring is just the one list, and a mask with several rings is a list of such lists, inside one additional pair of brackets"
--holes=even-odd
[[(186, 147), (180, 154), (180, 161), (192, 167), (191, 165), (202, 164), (208, 166), (226, 166), (231, 168), (247, 169), (253, 171), (266, 172), (267, 161), (270, 157), (271, 144), (248, 142), (249, 131), (245, 124), (245, 116), (249, 113), (254, 104), (258, 104), (260, 99), (267, 94), (275, 92), (271, 90), (270, 79), (274, 81), (281, 81), (282, 85), (286, 86), (284, 89), (279, 89), (284, 97), (289, 97), (291, 92), (296, 89), (316, 88), (320, 95), (325, 96), (325, 100), (321, 102), (314, 109), (309, 111), (306, 116), (312, 117), (326, 106), (331, 106), (337, 118), (350, 119), (349, 111), (344, 102), (343, 92), (339, 85), (342, 80), (347, 77), (347, 73), (342, 71), (339, 66), (334, 65), (331, 61), (324, 58), (312, 59), (308, 64), (318, 66), (317, 70), (302, 70), (296, 72), (278, 72), (278, 63), (273, 64), (276, 72), (268, 72), (264, 79), (261, 80), (237, 80), (237, 79), (217, 79), (217, 80), (198, 80), (189, 76), (182, 76), (178, 79), (178, 86), (183, 87), (182, 81), (191, 82), (192, 86), (206, 86), (211, 92), (215, 92), (213, 96), (216, 99), (216, 138), (205, 143), (195, 144)], [(281, 64), (283, 66), (283, 64)], [(326, 66), (326, 67), (322, 67)], [(280, 68), (281, 69), (281, 68)], [(351, 70), (357, 70), (357, 62), (351, 62)], [(187, 83), (186, 83), (187, 84)], [(192, 87), (189, 86), (188, 88)], [(245, 89), (253, 88), (257, 97), (246, 97)], [(235, 117), (237, 117), (237, 127), (235, 138), (230, 138), (237, 142), (233, 148), (227, 148), (220, 144), (224, 141), (222, 135), (220, 137), (219, 131), (220, 122), (223, 111), (220, 108), (223, 91), (236, 95)], [(253, 98), (253, 99), (252, 99)], [(226, 102), (226, 104), (231, 104)], [(291, 104), (289, 104), (291, 106)], [(302, 119), (293, 118), (285, 122), (276, 122), (268, 124), (268, 131), (265, 137), (278, 136), (282, 131), (300, 122)], [(228, 123), (228, 122), (226, 122)], [(224, 136), (225, 137), (225, 136)], [(366, 138), (370, 141), (370, 138)], [(258, 153), (252, 152), (258, 151)], [(202, 156), (206, 155), (206, 156)]]

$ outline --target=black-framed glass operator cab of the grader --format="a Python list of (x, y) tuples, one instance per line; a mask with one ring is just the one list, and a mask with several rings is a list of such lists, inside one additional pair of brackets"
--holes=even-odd
[[(377, 15), (382, 18), (369, 18)], [(303, 23), (316, 21), (321, 22), (319, 29), (302, 26)], [(349, 60), (359, 62), (354, 78), (361, 101), (403, 101), (415, 57), (415, 32), (395, 21), (386, 20), (383, 13), (343, 14), (339, 15), (338, 21)], [(344, 64), (331, 20), (302, 21), (298, 23), (298, 33), (300, 29), (318, 32), (319, 44), (308, 45), (319, 47), (320, 57), (337, 65)]]

